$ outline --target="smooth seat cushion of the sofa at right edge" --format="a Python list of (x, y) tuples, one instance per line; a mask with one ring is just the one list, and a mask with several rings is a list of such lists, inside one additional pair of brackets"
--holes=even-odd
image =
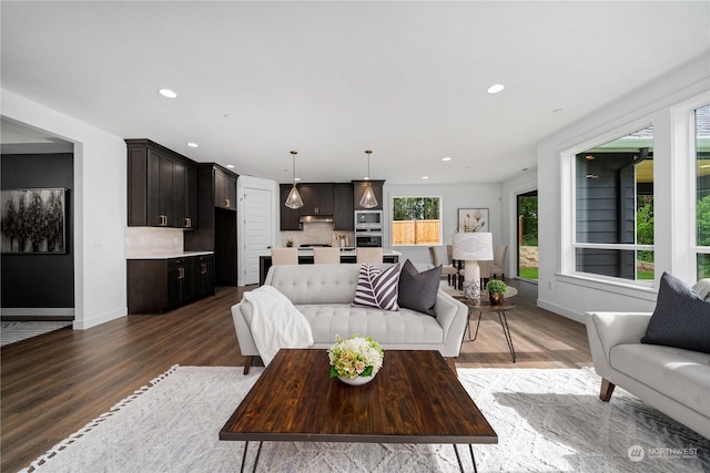
[(625, 343), (609, 351), (611, 367), (710, 417), (710, 354), (674, 347)]

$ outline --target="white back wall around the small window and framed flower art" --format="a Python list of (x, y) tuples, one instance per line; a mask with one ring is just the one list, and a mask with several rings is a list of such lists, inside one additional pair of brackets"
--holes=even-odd
[[(400, 261), (410, 259), (413, 263), (430, 263), (429, 251), (426, 246), (397, 246), (392, 247), (392, 197), (442, 197), (442, 208), (444, 220), (444, 245), (450, 244), (454, 232), (458, 226), (459, 208), (488, 208), (489, 232), (493, 233), (493, 241), (499, 244), (505, 241), (503, 230), (503, 206), (500, 198), (500, 184), (416, 184), (416, 185), (390, 185), (385, 182), (383, 188), (384, 198), (384, 246), (402, 251)], [(443, 256), (444, 253), (440, 253)]]

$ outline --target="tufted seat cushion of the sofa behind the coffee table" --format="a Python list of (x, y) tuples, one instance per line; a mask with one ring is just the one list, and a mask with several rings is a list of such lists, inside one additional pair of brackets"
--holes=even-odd
[[(416, 349), (444, 341), (444, 329), (434, 317), (410, 309), (398, 311), (346, 304), (296, 305), (311, 325), (315, 347), (329, 347), (335, 336), (359, 333), (387, 348)], [(422, 349), (422, 348), (419, 348)]]

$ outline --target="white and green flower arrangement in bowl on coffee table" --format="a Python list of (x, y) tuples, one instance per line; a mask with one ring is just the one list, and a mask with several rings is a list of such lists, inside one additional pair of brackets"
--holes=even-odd
[(372, 377), (382, 368), (385, 353), (382, 346), (369, 337), (362, 338), (355, 333), (352, 338), (342, 339), (335, 336), (335, 345), (328, 349), (331, 359), (331, 378), (346, 379)]

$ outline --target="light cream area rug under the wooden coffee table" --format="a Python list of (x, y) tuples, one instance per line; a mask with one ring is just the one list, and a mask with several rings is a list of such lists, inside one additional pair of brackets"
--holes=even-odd
[[(262, 370), (173, 367), (23, 471), (237, 471), (244, 444), (217, 435)], [(619, 388), (599, 401), (590, 369), (458, 373), (499, 439), (474, 445), (479, 472), (710, 471), (710, 441)], [(455, 472), (458, 463), (452, 445), (265, 442), (257, 471)]]

